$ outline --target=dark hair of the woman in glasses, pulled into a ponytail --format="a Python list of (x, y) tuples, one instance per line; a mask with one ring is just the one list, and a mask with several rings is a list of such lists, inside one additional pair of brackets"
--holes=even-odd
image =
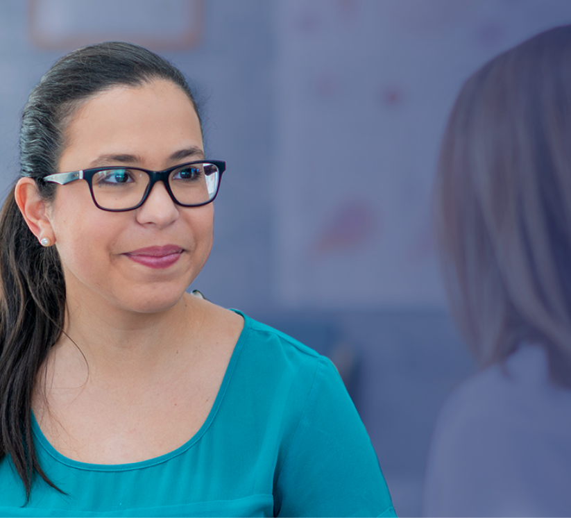
[[(83, 47), (56, 62), (32, 90), (22, 113), (20, 170), (51, 201), (65, 128), (82, 102), (117, 85), (161, 78), (178, 85), (200, 114), (185, 77), (155, 53), (107, 42)], [(202, 125), (202, 124), (201, 124)], [(24, 222), (14, 189), (0, 212), (0, 459), (9, 455), (29, 499), (42, 471), (35, 454), (31, 403), (38, 371), (62, 334), (65, 279), (56, 247), (43, 248)], [(57, 488), (56, 488), (57, 489)]]

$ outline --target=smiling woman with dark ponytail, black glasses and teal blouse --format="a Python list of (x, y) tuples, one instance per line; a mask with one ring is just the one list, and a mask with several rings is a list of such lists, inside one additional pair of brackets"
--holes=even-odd
[(176, 68), (126, 43), (60, 59), (21, 167), (0, 221), (0, 515), (395, 516), (332, 364), (185, 293), (225, 165)]

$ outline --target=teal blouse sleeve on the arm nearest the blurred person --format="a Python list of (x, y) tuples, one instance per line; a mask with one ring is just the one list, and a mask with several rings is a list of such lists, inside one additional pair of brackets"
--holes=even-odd
[(373, 445), (329, 360), (319, 362), (274, 496), (279, 518), (396, 517)]

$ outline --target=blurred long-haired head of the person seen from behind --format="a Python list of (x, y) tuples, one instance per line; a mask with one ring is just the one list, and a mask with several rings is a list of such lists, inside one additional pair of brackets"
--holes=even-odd
[(571, 26), (463, 85), (445, 130), (436, 227), (452, 312), (482, 365), (522, 342), (571, 379)]

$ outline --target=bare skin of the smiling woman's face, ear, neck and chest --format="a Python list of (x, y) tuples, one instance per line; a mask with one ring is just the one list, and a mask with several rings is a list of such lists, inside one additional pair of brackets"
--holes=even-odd
[[(58, 169), (100, 165), (162, 170), (203, 158), (200, 124), (169, 81), (114, 87), (78, 108)], [(144, 205), (105, 212), (85, 181), (58, 186), (53, 203), (21, 178), (15, 197), (65, 273), (65, 335), (40, 369), (35, 417), (74, 460), (138, 462), (187, 442), (205, 421), (243, 320), (185, 293), (212, 247), (214, 208), (183, 208), (157, 183)], [(176, 245), (180, 258), (153, 269), (129, 257)]]

